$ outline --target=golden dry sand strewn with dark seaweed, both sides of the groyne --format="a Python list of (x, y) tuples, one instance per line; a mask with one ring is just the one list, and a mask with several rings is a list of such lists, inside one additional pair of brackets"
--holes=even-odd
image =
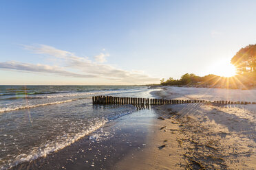
[[(154, 95), (256, 101), (256, 90), (174, 87)], [(160, 119), (151, 126), (149, 145), (118, 162), (118, 169), (256, 169), (255, 105), (180, 104), (152, 109)]]

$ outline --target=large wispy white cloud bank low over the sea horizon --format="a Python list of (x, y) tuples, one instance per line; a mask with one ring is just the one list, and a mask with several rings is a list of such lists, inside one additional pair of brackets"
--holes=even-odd
[[(56, 49), (48, 45), (23, 45), (24, 49), (28, 49), (33, 53), (45, 54), (53, 56), (65, 63), (65, 66), (50, 66), (43, 64), (29, 64), (22, 62), (0, 62), (0, 68), (18, 71), (30, 71), (36, 73), (54, 73), (63, 76), (72, 77), (96, 77), (111, 80), (114, 82), (122, 82), (127, 84), (147, 84), (158, 82), (158, 78), (150, 77), (143, 71), (125, 71), (118, 69), (116, 66), (103, 64), (106, 61), (107, 53), (100, 53), (94, 56), (96, 62), (87, 58), (76, 56), (74, 53)], [(72, 72), (67, 71), (72, 69)]]

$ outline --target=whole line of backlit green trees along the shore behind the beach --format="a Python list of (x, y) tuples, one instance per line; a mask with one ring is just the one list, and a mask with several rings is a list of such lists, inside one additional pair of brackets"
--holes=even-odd
[(160, 80), (163, 86), (191, 85), (217, 88), (250, 88), (256, 85), (256, 44), (248, 45), (235, 54), (231, 59), (237, 69), (237, 75), (233, 77), (220, 77), (217, 75), (205, 75), (200, 77), (193, 73), (186, 73), (180, 80), (169, 77), (168, 80)]

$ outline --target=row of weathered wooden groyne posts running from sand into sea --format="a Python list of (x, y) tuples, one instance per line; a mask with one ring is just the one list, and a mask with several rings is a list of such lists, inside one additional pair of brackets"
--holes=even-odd
[(256, 104), (247, 101), (209, 101), (209, 100), (175, 100), (175, 99), (149, 99), (137, 97), (113, 97), (113, 96), (94, 96), (92, 104), (133, 104), (133, 105), (163, 105), (163, 104)]

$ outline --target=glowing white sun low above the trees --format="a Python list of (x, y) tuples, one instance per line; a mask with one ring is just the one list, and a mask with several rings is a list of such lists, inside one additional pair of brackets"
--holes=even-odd
[(211, 66), (210, 73), (222, 77), (232, 77), (236, 75), (236, 69), (229, 60), (222, 60)]

